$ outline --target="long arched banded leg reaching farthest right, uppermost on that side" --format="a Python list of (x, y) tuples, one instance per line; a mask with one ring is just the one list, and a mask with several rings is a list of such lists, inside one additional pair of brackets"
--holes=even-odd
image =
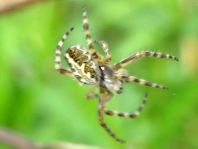
[(177, 57), (167, 54), (167, 53), (154, 52), (154, 51), (140, 51), (140, 52), (137, 52), (137, 53), (133, 54), (132, 56), (129, 56), (128, 58), (123, 59), (120, 62), (116, 63), (113, 66), (113, 68), (114, 69), (122, 68), (122, 67), (126, 66), (127, 64), (132, 63), (135, 60), (138, 60), (139, 58), (142, 58), (142, 57), (165, 58), (165, 59), (172, 59), (172, 60), (178, 61)]

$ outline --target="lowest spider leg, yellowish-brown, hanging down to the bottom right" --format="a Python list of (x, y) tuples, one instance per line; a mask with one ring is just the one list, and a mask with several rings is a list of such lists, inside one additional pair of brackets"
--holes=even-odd
[(120, 139), (119, 137), (116, 136), (116, 134), (108, 127), (108, 125), (106, 124), (105, 120), (104, 120), (104, 114), (105, 114), (105, 105), (106, 102), (109, 100), (109, 98), (112, 95), (108, 95), (108, 94), (101, 94), (101, 96), (99, 97), (99, 108), (98, 108), (98, 119), (99, 119), (99, 123), (100, 125), (106, 130), (106, 132), (113, 137), (116, 141), (120, 142), (120, 143), (125, 143), (124, 140)]

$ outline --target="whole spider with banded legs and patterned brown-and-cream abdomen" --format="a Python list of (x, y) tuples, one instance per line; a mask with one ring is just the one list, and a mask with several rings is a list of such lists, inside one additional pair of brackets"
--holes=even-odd
[[(116, 141), (124, 143), (125, 141), (120, 139), (106, 124), (104, 115), (118, 116), (134, 119), (140, 115), (144, 105), (147, 101), (147, 94), (140, 106), (132, 113), (118, 112), (109, 110), (106, 108), (107, 102), (110, 101), (113, 94), (120, 94), (123, 90), (123, 83), (134, 82), (140, 85), (145, 85), (154, 88), (167, 89), (167, 87), (140, 79), (128, 74), (124, 67), (136, 60), (143, 57), (155, 57), (172, 59), (178, 61), (178, 59), (170, 54), (155, 52), (150, 50), (137, 52), (115, 64), (110, 64), (111, 54), (109, 52), (108, 44), (105, 41), (93, 41), (90, 34), (89, 21), (87, 17), (87, 11), (82, 9), (83, 17), (83, 30), (85, 32), (85, 38), (88, 44), (88, 48), (83, 48), (80, 45), (74, 45), (69, 47), (65, 52), (65, 60), (67, 61), (69, 68), (65, 69), (61, 66), (61, 53), (63, 44), (70, 32), (73, 31), (73, 27), (69, 31), (65, 32), (58, 42), (55, 52), (55, 69), (62, 75), (72, 76), (76, 78), (82, 84), (92, 86), (92, 89), (87, 93), (87, 98), (98, 99), (98, 120), (100, 125), (106, 130), (106, 132), (113, 137)], [(96, 52), (95, 45), (98, 44), (104, 50), (105, 56)], [(95, 93), (95, 87), (99, 88), (99, 93)]]

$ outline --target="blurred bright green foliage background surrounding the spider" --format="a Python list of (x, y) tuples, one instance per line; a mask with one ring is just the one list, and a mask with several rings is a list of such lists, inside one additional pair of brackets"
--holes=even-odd
[[(91, 33), (109, 43), (112, 63), (152, 49), (180, 61), (145, 58), (127, 66), (130, 74), (167, 85), (168, 91), (126, 84), (108, 107), (133, 111), (145, 92), (149, 101), (135, 120), (106, 117), (127, 144), (100, 127), (97, 101), (88, 86), (54, 70), (55, 47), (70, 27), (65, 48), (86, 47), (81, 6)], [(99, 52), (102, 50), (97, 47)], [(66, 65), (63, 63), (63, 65)], [(198, 1), (57, 0), (0, 15), (0, 126), (38, 143), (66, 141), (113, 149), (198, 148)], [(4, 148), (0, 145), (0, 148)]]

